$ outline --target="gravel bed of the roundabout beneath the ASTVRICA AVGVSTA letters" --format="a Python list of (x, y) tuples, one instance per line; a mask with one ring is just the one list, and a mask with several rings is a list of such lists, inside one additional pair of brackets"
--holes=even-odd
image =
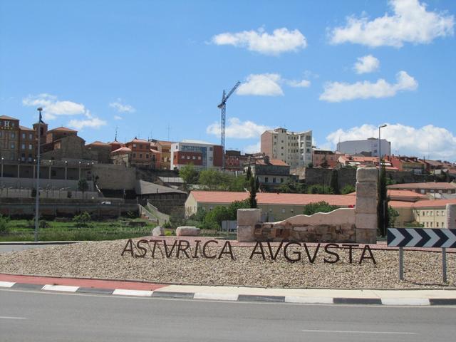
[[(138, 241), (135, 239), (134, 241)], [(280, 253), (275, 261), (263, 260), (260, 255), (249, 259), (253, 247), (233, 247), (236, 257), (221, 259), (187, 259), (180, 256), (164, 258), (157, 250), (155, 259), (148, 250), (144, 258), (120, 256), (127, 240), (82, 242), (78, 244), (28, 249), (0, 254), (0, 272), (39, 274), (42, 276), (88, 277), (99, 279), (135, 279), (175, 284), (212, 284), (285, 288), (331, 289), (427, 289), (456, 286), (456, 254), (447, 253), (447, 284), (442, 282), (442, 254), (435, 252), (404, 252), (405, 280), (398, 279), (398, 251), (373, 250), (377, 264), (365, 259), (358, 264), (361, 249), (353, 249), (353, 263), (348, 250), (331, 249), (341, 260), (328, 264), (323, 258), (334, 259), (318, 251), (314, 264), (309, 262), (304, 247), (289, 249), (301, 252), (301, 261), (291, 263)], [(222, 249), (211, 247), (209, 254)], [(275, 251), (275, 248), (274, 248)], [(309, 247), (314, 254), (315, 247)], [(267, 248), (265, 250), (266, 257)], [(368, 255), (368, 254), (366, 254)]]

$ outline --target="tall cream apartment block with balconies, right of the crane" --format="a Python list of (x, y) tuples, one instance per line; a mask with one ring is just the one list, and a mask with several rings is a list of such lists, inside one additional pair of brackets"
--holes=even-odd
[(261, 152), (290, 167), (306, 167), (312, 162), (312, 131), (266, 130), (261, 134)]

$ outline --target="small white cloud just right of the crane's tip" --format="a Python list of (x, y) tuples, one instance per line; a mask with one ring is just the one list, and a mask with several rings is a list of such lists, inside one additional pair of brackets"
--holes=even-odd
[(284, 91), (279, 86), (278, 73), (260, 73), (247, 76), (247, 82), (237, 88), (237, 95), (281, 96)]

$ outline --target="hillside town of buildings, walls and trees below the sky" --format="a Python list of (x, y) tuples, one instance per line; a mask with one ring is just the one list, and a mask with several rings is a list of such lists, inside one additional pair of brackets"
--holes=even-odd
[(201, 223), (201, 212), (247, 200), (252, 177), (264, 219), (286, 219), (316, 202), (353, 207), (358, 167), (385, 171), (396, 227), (444, 227), (445, 205), (456, 203), (455, 163), (393, 155), (390, 142), (378, 138), (324, 150), (312, 145), (311, 130), (266, 130), (260, 150), (242, 154), (199, 140), (115, 136), (87, 143), (76, 130), (42, 121), (27, 128), (3, 115), (0, 157), (0, 214), (9, 217), (33, 217), (39, 193), (48, 217), (76, 214), (83, 205), (95, 216), (138, 210), (160, 224)]

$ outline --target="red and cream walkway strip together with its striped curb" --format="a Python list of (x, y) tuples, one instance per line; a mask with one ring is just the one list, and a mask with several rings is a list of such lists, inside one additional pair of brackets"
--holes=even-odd
[(456, 290), (264, 289), (244, 286), (153, 284), (145, 281), (59, 278), (0, 274), (0, 288), (217, 301), (296, 304), (456, 306)]

